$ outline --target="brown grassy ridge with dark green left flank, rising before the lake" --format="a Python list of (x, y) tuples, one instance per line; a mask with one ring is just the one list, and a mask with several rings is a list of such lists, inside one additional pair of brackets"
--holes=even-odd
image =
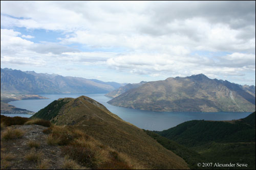
[(105, 147), (133, 158), (146, 169), (188, 169), (182, 158), (163, 148), (142, 129), (124, 122), (87, 96), (56, 100), (32, 118), (44, 118), (54, 125), (76, 127)]

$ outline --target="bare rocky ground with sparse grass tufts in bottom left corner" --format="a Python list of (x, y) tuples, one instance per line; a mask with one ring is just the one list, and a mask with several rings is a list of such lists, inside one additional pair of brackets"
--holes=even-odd
[[(1, 169), (60, 169), (63, 167), (65, 158), (61, 155), (57, 145), (49, 145), (46, 142), (46, 135), (42, 132), (46, 127), (38, 125), (10, 126), (12, 130), (18, 129), (24, 135), (15, 139), (3, 139), (1, 129)], [(38, 148), (31, 148), (29, 141), (39, 143)], [(29, 161), (26, 156), (35, 150), (39, 155), (38, 160)]]

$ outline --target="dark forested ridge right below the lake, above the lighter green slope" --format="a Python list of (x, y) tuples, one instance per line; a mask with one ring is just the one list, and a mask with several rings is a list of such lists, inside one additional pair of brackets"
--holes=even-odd
[(228, 123), (191, 120), (157, 133), (188, 147), (195, 147), (211, 141), (222, 143), (255, 141), (255, 128), (241, 121)]

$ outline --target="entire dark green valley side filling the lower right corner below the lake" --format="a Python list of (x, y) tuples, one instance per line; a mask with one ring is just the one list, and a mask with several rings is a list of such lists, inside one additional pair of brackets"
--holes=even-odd
[[(202, 168), (196, 164), (200, 161), (247, 164), (243, 167), (236, 164), (231, 169), (255, 169), (255, 112), (239, 120), (191, 120), (168, 130), (147, 134), (181, 156), (193, 169)], [(210, 166), (204, 169), (230, 167)]]

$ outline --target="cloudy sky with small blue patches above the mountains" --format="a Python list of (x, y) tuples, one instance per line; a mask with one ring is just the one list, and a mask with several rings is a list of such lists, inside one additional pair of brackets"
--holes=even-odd
[(1, 68), (255, 85), (255, 1), (1, 1)]

